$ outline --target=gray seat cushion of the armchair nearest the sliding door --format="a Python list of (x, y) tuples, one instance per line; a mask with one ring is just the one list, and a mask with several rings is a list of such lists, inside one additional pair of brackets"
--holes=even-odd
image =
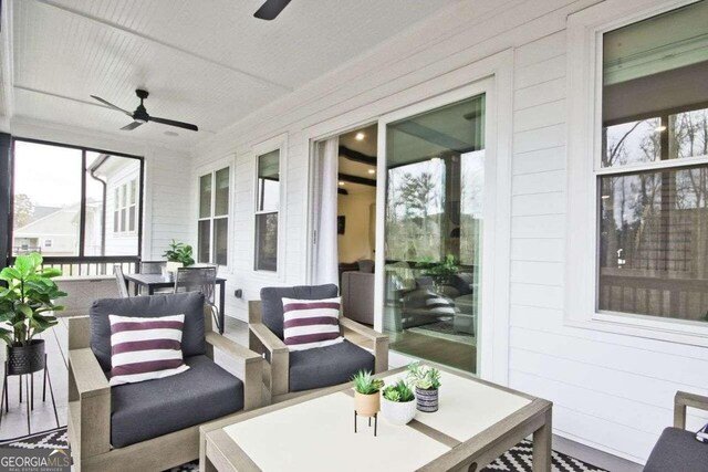
[(374, 355), (344, 340), (290, 353), (290, 391), (345, 384), (358, 370), (374, 371)]

